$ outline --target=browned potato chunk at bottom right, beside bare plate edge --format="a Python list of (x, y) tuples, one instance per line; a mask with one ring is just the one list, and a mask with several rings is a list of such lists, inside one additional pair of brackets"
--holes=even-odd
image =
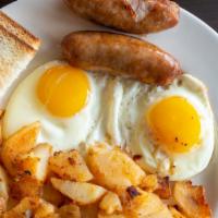
[(203, 186), (192, 185), (191, 181), (175, 182), (173, 197), (179, 208), (187, 217), (211, 217), (211, 211), (205, 199), (205, 190)]

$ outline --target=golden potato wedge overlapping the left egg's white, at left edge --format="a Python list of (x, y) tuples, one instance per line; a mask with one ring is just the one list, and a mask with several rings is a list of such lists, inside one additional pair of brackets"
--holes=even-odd
[(3, 142), (1, 159), (11, 175), (17, 173), (16, 164), (14, 162), (16, 156), (27, 154), (36, 146), (39, 130), (39, 122), (35, 122), (22, 128)]

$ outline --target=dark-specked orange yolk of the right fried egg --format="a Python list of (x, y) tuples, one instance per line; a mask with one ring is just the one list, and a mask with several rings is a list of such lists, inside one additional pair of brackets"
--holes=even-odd
[(199, 143), (199, 116), (183, 97), (172, 96), (157, 102), (147, 121), (154, 140), (166, 152), (186, 153)]

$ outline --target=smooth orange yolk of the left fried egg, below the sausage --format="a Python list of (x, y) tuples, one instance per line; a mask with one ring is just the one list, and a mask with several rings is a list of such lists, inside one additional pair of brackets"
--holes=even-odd
[(50, 113), (72, 117), (86, 105), (89, 81), (84, 71), (70, 65), (48, 69), (39, 78), (37, 96)]

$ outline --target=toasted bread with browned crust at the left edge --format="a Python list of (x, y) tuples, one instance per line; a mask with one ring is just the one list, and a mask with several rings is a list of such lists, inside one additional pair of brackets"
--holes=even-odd
[(25, 70), (40, 40), (0, 11), (0, 98)]

